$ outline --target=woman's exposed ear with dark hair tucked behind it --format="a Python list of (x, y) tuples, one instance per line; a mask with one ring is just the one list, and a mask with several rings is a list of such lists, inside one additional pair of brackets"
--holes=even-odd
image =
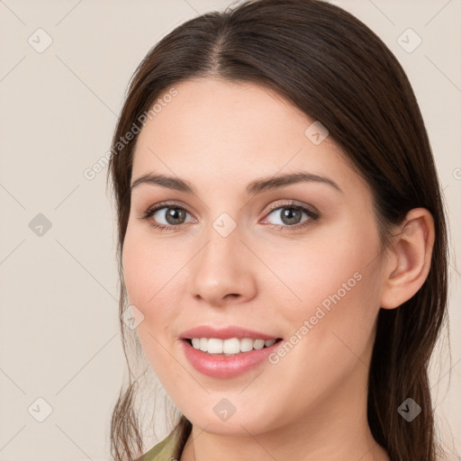
[(380, 305), (384, 309), (394, 309), (405, 303), (424, 284), (435, 239), (432, 214), (425, 208), (413, 208), (393, 239), (381, 293)]

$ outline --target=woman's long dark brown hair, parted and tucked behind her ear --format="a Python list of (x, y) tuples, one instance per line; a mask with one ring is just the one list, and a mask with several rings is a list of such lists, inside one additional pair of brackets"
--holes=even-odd
[[(175, 84), (196, 77), (253, 82), (275, 89), (330, 132), (370, 186), (383, 245), (412, 208), (432, 213), (436, 240), (429, 276), (397, 309), (378, 314), (369, 368), (367, 417), (393, 461), (435, 461), (438, 448), (428, 366), (447, 322), (447, 229), (444, 204), (420, 108), (401, 65), (364, 23), (318, 0), (252, 0), (187, 21), (149, 50), (136, 69), (117, 123), (108, 171), (118, 213), (120, 314), (127, 306), (122, 249), (130, 213), (131, 165), (140, 124)], [(142, 449), (137, 381), (130, 370), (111, 421), (111, 451), (132, 460)], [(140, 353), (138, 345), (138, 353)], [(397, 411), (407, 398), (421, 407), (411, 421)], [(176, 429), (187, 437), (190, 421)]]

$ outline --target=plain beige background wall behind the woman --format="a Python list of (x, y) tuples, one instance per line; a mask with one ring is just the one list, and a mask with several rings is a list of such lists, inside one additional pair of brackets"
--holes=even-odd
[[(105, 169), (93, 180), (83, 172), (109, 149), (125, 88), (149, 48), (186, 19), (230, 3), (0, 1), (1, 461), (109, 459), (110, 410), (124, 370), (114, 215), (104, 191)], [(410, 77), (459, 259), (461, 4), (332, 3), (368, 24)], [(39, 28), (45, 32), (36, 32)], [(408, 28), (422, 39), (411, 53), (397, 41)], [(47, 34), (52, 43), (38, 52)], [(50, 230), (37, 227), (43, 225), (42, 217), (35, 218), (39, 213)], [(442, 350), (432, 384), (440, 427), (451, 428), (444, 436), (447, 447), (461, 452), (461, 296), (455, 265), (454, 259), (452, 361)], [(50, 415), (39, 422), (48, 405)]]

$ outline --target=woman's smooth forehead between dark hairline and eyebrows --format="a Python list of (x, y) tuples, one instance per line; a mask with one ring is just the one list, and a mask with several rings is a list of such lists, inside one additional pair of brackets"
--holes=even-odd
[(355, 175), (333, 140), (306, 135), (315, 121), (266, 86), (201, 78), (174, 88), (140, 131), (133, 178), (156, 171), (232, 185), (281, 170)]

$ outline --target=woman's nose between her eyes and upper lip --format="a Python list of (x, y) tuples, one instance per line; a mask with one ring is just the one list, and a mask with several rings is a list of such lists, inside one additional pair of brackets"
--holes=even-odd
[(191, 294), (195, 300), (222, 307), (246, 303), (257, 293), (256, 264), (240, 240), (239, 227), (224, 237), (212, 226), (203, 248), (191, 261)]

